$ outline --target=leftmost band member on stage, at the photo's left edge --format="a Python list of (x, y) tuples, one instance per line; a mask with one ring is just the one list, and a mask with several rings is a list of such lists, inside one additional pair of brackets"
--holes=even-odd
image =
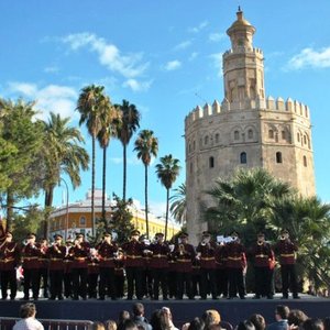
[(7, 299), (8, 285), (10, 299), (14, 299), (18, 292), (16, 265), (20, 258), (19, 245), (12, 241), (12, 233), (7, 232), (4, 241), (0, 244), (0, 278), (2, 300)]

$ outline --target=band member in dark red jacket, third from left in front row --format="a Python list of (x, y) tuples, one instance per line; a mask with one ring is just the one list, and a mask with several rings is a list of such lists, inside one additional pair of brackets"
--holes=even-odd
[(64, 258), (66, 255), (66, 248), (62, 245), (63, 237), (61, 234), (54, 235), (54, 243), (48, 248), (47, 255), (50, 260), (50, 280), (51, 280), (51, 300), (63, 299), (62, 283), (64, 277)]

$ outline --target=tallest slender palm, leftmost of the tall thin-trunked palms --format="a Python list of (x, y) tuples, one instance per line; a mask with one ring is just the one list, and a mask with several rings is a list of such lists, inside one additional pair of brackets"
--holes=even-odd
[(90, 85), (81, 89), (78, 101), (77, 110), (80, 113), (79, 125), (86, 123), (88, 133), (91, 135), (91, 226), (92, 235), (95, 235), (95, 142), (96, 138), (101, 130), (101, 108), (105, 103), (103, 86)]

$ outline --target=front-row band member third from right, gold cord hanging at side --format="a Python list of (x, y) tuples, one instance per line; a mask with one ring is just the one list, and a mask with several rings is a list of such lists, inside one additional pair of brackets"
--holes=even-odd
[(226, 245), (226, 253), (228, 256), (229, 299), (235, 298), (238, 293), (241, 299), (245, 299), (245, 249), (241, 244), (239, 234), (235, 231), (230, 235), (232, 241)]

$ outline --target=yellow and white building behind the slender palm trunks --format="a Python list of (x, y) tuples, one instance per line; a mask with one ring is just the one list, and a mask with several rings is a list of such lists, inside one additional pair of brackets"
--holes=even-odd
[[(110, 206), (113, 201), (106, 200), (107, 213), (110, 213)], [(133, 215), (132, 223), (141, 234), (146, 232), (145, 212), (141, 209), (140, 202), (134, 200), (129, 207)], [(102, 213), (102, 191), (95, 190), (95, 217), (100, 218)], [(86, 199), (56, 208), (50, 216), (48, 237), (52, 239), (55, 233), (62, 234), (65, 239), (74, 238), (77, 232), (91, 234), (91, 190), (86, 194)], [(148, 213), (148, 231), (150, 238), (153, 238), (156, 232), (165, 233), (165, 219), (155, 217)], [(173, 220), (168, 221), (167, 239), (180, 231), (180, 226)]]

